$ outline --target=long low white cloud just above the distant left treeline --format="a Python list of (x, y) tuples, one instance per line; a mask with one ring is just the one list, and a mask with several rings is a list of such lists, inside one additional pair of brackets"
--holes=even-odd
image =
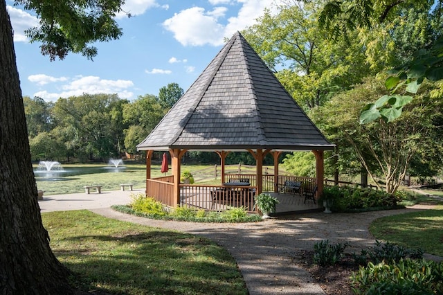
[(44, 100), (55, 101), (61, 97), (81, 96), (83, 93), (117, 93), (120, 98), (132, 98), (134, 93), (127, 89), (133, 86), (134, 83), (130, 80), (105, 80), (96, 76), (78, 76), (69, 84), (62, 85), (62, 91), (60, 92), (56, 93), (44, 90), (34, 93), (34, 96), (39, 96)]

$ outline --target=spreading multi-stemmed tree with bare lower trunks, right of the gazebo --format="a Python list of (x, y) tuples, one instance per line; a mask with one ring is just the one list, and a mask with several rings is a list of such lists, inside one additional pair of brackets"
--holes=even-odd
[[(386, 89), (383, 83), (368, 79), (364, 84), (346, 91), (318, 109), (320, 127), (334, 130), (343, 138), (342, 145), (351, 145), (361, 165), (379, 186), (377, 175), (383, 175), (386, 192), (394, 193), (404, 179), (414, 157), (427, 150), (440, 150), (443, 101), (433, 98), (429, 91), (405, 108), (404, 116), (387, 123), (377, 120), (360, 125), (359, 109)], [(318, 121), (316, 120), (316, 122)]]

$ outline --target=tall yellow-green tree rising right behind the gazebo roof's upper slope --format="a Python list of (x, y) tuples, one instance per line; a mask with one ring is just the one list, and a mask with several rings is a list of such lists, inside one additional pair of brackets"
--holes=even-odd
[(333, 40), (318, 24), (317, 3), (294, 1), (266, 12), (244, 36), (299, 105), (322, 105), (368, 75), (363, 46), (354, 38)]

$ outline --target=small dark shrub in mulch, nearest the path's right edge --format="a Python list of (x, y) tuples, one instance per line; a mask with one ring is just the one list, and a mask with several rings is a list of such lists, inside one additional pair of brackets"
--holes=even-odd
[(343, 258), (345, 248), (349, 246), (345, 244), (329, 244), (329, 240), (322, 240), (314, 244), (314, 263), (317, 265), (335, 265)]

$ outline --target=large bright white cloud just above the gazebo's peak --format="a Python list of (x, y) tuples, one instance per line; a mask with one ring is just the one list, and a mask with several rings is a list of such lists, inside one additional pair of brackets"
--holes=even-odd
[(210, 0), (213, 5), (238, 3), (242, 7), (235, 17), (227, 20), (224, 20), (228, 12), (226, 7), (217, 6), (210, 11), (201, 7), (188, 8), (163, 21), (163, 26), (183, 46), (219, 46), (224, 44), (225, 37), (230, 38), (237, 30), (244, 30), (255, 24), (255, 19), (263, 15), (264, 8), (273, 11), (273, 2), (274, 0)]

